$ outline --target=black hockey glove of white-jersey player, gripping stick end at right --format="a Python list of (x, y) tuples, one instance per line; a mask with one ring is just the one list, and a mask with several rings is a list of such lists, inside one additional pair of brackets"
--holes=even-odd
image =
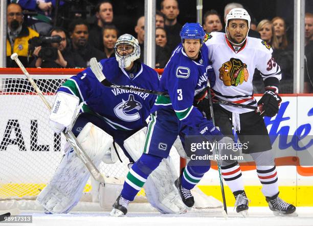
[(278, 93), (271, 90), (266, 90), (258, 102), (258, 107), (260, 107), (261, 116), (273, 117), (278, 113), (279, 105), (281, 102), (281, 97)]

